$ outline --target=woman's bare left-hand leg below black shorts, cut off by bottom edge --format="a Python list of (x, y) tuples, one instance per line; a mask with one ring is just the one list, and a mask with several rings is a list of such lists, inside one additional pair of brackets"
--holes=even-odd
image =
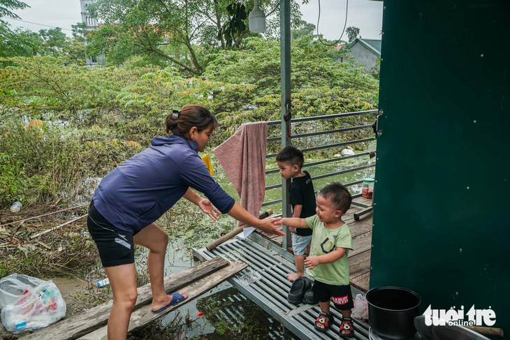
[(134, 263), (105, 267), (113, 293), (113, 305), (108, 318), (108, 340), (125, 340), (129, 319), (136, 304), (136, 270)]

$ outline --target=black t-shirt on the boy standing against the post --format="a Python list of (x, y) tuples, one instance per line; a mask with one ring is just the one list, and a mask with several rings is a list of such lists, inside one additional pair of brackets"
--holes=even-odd
[[(307, 171), (303, 172), (305, 172), (305, 176), (294, 178), (289, 187), (289, 203), (292, 205), (292, 210), (294, 210), (294, 205), (303, 205), (299, 216), (301, 219), (315, 215), (314, 184), (312, 184), (310, 174)], [(312, 229), (298, 228), (296, 233), (301, 236), (309, 236), (312, 235)]]

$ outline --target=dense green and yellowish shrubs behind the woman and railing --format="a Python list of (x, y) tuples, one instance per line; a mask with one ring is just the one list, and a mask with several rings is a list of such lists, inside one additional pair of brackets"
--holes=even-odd
[[(51, 56), (1, 59), (0, 224), (20, 219), (6, 213), (15, 200), (24, 212), (56, 200), (59, 207), (88, 202), (99, 179), (163, 135), (164, 117), (188, 103), (210, 108), (219, 119), (210, 147), (242, 123), (278, 120), (279, 43), (244, 41), (244, 50), (210, 51), (201, 77), (173, 66), (140, 66), (136, 59), (124, 68), (83, 68)], [(335, 53), (309, 35), (293, 40), (293, 117), (376, 108), (377, 80), (336, 63)], [(367, 119), (331, 119), (322, 128), (371, 124)], [(279, 135), (278, 127), (269, 135)], [(268, 145), (268, 152), (278, 149), (277, 142)], [(187, 203), (179, 209), (179, 223), (171, 211), (160, 223), (190, 245), (207, 244), (235, 226), (228, 219), (206, 223)]]

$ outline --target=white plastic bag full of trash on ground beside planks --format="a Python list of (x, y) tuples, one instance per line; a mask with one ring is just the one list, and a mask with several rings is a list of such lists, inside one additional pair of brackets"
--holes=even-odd
[(53, 281), (11, 274), (0, 280), (1, 321), (11, 333), (40, 330), (66, 316), (66, 302)]

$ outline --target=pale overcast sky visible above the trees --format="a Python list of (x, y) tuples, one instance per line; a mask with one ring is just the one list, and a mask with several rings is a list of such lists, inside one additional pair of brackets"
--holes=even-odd
[[(319, 1), (321, 6), (319, 34), (323, 34), (328, 40), (337, 40), (342, 34), (345, 23), (346, 1), (349, 1), (346, 27), (358, 27), (362, 38), (381, 38), (382, 1), (309, 0), (309, 3), (306, 5), (301, 5), (303, 20), (317, 25), (317, 20), (319, 19)], [(71, 25), (82, 21), (80, 0), (23, 0), (23, 2), (27, 3), (30, 8), (15, 10), (15, 13), (21, 17), (21, 20), (24, 20), (23, 22), (6, 17), (2, 18), (11, 24), (11, 29), (23, 27), (31, 31), (39, 31), (40, 29), (60, 27), (65, 34), (71, 36)], [(298, 0), (298, 3), (301, 2), (301, 0)], [(347, 34), (344, 33), (342, 40), (347, 40)]]

